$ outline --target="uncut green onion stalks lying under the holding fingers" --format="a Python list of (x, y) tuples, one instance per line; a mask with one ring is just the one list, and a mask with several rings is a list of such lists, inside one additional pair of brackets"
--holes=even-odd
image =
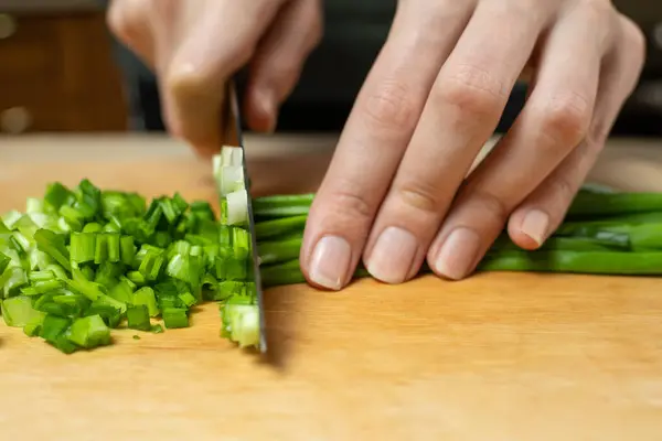
[[(298, 257), (313, 196), (274, 195), (254, 202), (265, 287), (306, 281)], [(504, 232), (478, 270), (662, 275), (662, 194), (615, 193), (586, 186), (564, 223), (540, 249), (525, 251)], [(420, 272), (429, 271), (424, 266)], [(363, 267), (354, 273), (355, 278), (367, 276)]]

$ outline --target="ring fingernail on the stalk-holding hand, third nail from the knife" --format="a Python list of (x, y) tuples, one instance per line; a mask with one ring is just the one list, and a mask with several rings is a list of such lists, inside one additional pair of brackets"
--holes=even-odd
[(459, 280), (469, 275), (478, 256), (480, 237), (466, 227), (453, 229), (446, 238), (435, 261), (435, 269), (440, 275)]

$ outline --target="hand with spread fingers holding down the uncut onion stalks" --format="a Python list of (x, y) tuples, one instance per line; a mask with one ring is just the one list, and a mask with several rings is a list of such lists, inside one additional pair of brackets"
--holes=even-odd
[[(461, 279), (505, 224), (540, 247), (643, 61), (642, 33), (607, 0), (401, 0), (310, 211), (308, 280), (340, 289), (361, 257), (384, 282), (426, 258)], [(523, 111), (468, 175), (523, 73)]]

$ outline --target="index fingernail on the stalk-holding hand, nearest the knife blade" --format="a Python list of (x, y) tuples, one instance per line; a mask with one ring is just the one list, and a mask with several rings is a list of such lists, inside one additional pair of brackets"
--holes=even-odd
[(352, 258), (350, 244), (342, 237), (322, 237), (310, 259), (309, 277), (314, 283), (340, 290), (346, 277)]

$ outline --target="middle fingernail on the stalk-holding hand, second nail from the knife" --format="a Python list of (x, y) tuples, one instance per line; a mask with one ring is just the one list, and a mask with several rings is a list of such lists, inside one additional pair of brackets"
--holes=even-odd
[(375, 279), (402, 283), (409, 273), (417, 249), (418, 240), (412, 233), (388, 227), (377, 238), (365, 267)]

